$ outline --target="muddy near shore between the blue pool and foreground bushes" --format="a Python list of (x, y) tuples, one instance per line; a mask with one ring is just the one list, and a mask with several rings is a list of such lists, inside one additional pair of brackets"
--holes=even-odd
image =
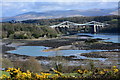
[[(98, 52), (99, 54), (103, 54), (102, 52)], [(105, 53), (109, 54), (111, 51), (106, 51)], [(116, 52), (113, 52), (114, 54)], [(119, 53), (119, 52), (118, 52)], [(7, 56), (5, 56), (7, 55)], [(40, 62), (40, 64), (43, 64), (44, 66), (50, 66), (51, 63), (54, 63), (56, 61), (60, 61), (63, 63), (63, 65), (69, 65), (69, 66), (87, 66), (90, 62), (93, 62), (96, 67), (110, 67), (113, 65), (118, 65), (118, 58), (107, 58), (105, 61), (101, 60), (91, 60), (91, 59), (73, 59), (76, 58), (76, 56), (55, 56), (55, 57), (44, 57), (44, 56), (27, 56), (27, 55), (19, 55), (19, 54), (11, 54), (11, 53), (5, 53), (3, 56), (4, 58), (8, 58), (11, 61), (26, 61), (28, 59), (35, 58), (37, 61)], [(115, 54), (116, 55), (116, 54)], [(104, 65), (103, 65), (104, 64)]]

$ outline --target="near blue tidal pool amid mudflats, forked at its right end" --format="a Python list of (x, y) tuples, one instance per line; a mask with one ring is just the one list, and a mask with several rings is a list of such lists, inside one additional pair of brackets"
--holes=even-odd
[(89, 52), (99, 52), (106, 50), (59, 50), (59, 51), (49, 51), (43, 52), (45, 49), (49, 49), (50, 47), (44, 46), (20, 46), (16, 50), (7, 51), (8, 53), (15, 53), (20, 55), (28, 55), (28, 56), (77, 56), (77, 59), (93, 59), (93, 60), (104, 60), (105, 58), (87, 58), (85, 56), (81, 56), (81, 53), (89, 53)]

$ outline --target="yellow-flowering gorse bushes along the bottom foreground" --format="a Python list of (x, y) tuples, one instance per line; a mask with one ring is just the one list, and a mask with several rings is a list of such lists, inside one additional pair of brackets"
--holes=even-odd
[(8, 68), (6, 72), (9, 72), (10, 76), (2, 75), (2, 80), (86, 80), (86, 79), (119, 79), (119, 69), (113, 66), (111, 69), (94, 69), (90, 70), (77, 70), (76, 73), (61, 73), (55, 69), (52, 69), (54, 73), (33, 73), (27, 70), (22, 72), (20, 68)]

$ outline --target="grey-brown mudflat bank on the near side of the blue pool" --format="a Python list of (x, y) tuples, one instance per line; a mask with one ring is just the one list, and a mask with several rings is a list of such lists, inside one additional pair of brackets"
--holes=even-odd
[[(82, 66), (83, 68), (89, 69), (91, 62), (94, 64), (94, 67), (98, 67), (98, 68), (109, 68), (114, 65), (116, 66), (119, 65), (118, 53), (119, 52), (111, 53), (111, 51), (106, 51), (106, 52), (98, 52), (98, 54), (99, 55), (102, 54), (102, 56), (107, 54), (109, 55), (109, 57), (92, 56), (92, 58), (105, 58), (105, 60), (77, 59), (77, 56), (54, 56), (54, 57), (36, 56), (36, 57), (33, 57), (33, 56), (11, 54), (11, 53), (5, 53), (3, 55), (3, 58), (7, 58), (14, 62), (14, 61), (26, 61), (32, 57), (32, 58), (35, 58), (46, 69), (49, 69), (50, 67), (54, 67), (56, 62), (66, 67), (67, 66), (74, 66), (74, 67)], [(92, 53), (86, 53), (86, 54), (92, 54)], [(86, 55), (83, 55), (83, 56), (86, 56)], [(90, 58), (91, 56), (86, 56), (86, 57)]]

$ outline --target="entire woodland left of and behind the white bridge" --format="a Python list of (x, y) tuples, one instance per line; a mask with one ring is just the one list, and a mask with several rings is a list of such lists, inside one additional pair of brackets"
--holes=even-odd
[(101, 29), (100, 33), (120, 33), (120, 16), (94, 16), (94, 17), (68, 17), (57, 19), (39, 19), (25, 20), (16, 23), (4, 22), (2, 24), (2, 38), (12, 39), (32, 39), (39, 37), (57, 37), (58, 34), (64, 34), (66, 31), (56, 30), (49, 26), (59, 24), (63, 21), (71, 21), (75, 23), (86, 23), (90, 21), (98, 21), (109, 24), (108, 27)]

